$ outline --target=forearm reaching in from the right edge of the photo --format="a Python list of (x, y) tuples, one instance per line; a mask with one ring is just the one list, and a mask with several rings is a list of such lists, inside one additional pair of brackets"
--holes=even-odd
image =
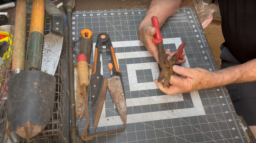
[(214, 71), (214, 87), (256, 81), (256, 59), (241, 65)]

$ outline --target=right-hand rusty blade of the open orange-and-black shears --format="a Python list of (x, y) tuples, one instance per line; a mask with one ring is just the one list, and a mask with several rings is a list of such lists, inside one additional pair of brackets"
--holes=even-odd
[(112, 100), (117, 107), (117, 111), (126, 126), (126, 100), (124, 98), (123, 87), (119, 76), (113, 76), (108, 79), (108, 89)]

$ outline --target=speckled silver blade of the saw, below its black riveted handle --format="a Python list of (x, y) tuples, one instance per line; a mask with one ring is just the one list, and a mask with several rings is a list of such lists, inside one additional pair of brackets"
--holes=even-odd
[(63, 36), (49, 33), (44, 36), (41, 71), (54, 75), (59, 63)]

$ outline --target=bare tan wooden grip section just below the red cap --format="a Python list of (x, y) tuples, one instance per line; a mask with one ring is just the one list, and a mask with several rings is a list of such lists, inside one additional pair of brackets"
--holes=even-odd
[(80, 86), (89, 85), (89, 72), (88, 65), (86, 61), (80, 61), (77, 63), (77, 73), (79, 77)]

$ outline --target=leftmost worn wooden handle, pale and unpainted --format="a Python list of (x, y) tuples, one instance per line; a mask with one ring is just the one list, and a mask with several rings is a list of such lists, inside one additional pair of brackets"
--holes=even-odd
[[(12, 51), (12, 70), (24, 71), (25, 47), (26, 47), (26, 16), (27, 1), (17, 0), (16, 16), (13, 36)], [(18, 73), (16, 72), (16, 73)]]

